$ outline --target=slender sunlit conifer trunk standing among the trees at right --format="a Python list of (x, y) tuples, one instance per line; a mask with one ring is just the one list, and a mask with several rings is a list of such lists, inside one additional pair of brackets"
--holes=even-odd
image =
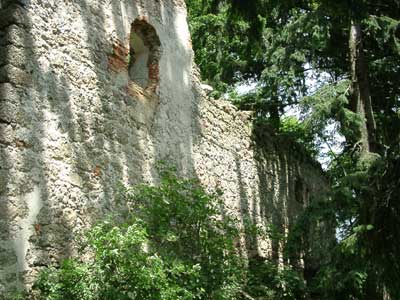
[(350, 25), (349, 50), (352, 81), (350, 106), (363, 119), (359, 128), (362, 153), (376, 152), (376, 123), (369, 90), (368, 67), (364, 56), (361, 25), (354, 19)]

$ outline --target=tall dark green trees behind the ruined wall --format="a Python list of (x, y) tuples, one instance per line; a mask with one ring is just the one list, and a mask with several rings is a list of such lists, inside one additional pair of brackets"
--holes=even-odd
[[(326, 170), (338, 241), (308, 279), (309, 297), (400, 299), (400, 2), (186, 3), (195, 59), (214, 96), (229, 94), (255, 111), (256, 126), (292, 135), (315, 157), (334, 148), (335, 134), (344, 137)], [(240, 94), (241, 84), (255, 88)], [(288, 122), (294, 106), (302, 117)]]

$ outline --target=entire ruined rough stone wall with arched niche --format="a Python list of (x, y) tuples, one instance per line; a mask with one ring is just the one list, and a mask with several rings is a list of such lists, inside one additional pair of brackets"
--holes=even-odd
[[(154, 182), (158, 160), (282, 228), (324, 186), (317, 168), (257, 146), (249, 114), (205, 97), (183, 0), (0, 0), (0, 47), (0, 295), (73, 253), (118, 183)], [(282, 248), (245, 245), (278, 259)]]

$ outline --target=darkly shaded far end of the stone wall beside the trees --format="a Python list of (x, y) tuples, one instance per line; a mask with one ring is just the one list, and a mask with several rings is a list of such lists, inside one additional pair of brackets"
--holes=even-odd
[[(260, 140), (264, 139), (264, 140)], [(272, 225), (271, 259), (277, 266), (303, 271), (310, 280), (321, 264), (329, 260), (326, 249), (335, 240), (332, 220), (304, 214), (308, 208), (328, 201), (328, 185), (322, 170), (307, 158), (282, 149), (279, 139), (268, 144), (257, 136), (257, 172), (260, 214)], [(274, 143), (278, 143), (279, 148)], [(288, 147), (289, 148), (289, 147)]]

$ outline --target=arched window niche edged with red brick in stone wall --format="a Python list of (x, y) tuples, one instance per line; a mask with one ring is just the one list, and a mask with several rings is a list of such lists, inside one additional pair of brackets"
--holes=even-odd
[(136, 19), (129, 40), (129, 79), (143, 89), (156, 91), (160, 57), (161, 42), (155, 28), (143, 18)]

